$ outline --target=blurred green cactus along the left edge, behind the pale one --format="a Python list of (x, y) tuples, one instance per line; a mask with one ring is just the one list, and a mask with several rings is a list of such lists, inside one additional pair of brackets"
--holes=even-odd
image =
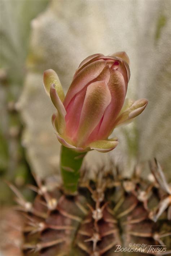
[(3, 179), (22, 186), (30, 176), (23, 147), (23, 124), (16, 109), (26, 72), (30, 21), (47, 5), (47, 0), (0, 1), (0, 201), (9, 203), (11, 194)]

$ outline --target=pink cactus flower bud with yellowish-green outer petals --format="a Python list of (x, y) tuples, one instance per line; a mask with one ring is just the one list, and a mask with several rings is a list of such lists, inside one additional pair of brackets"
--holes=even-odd
[(62, 145), (77, 152), (108, 152), (118, 145), (117, 138), (108, 139), (113, 129), (141, 114), (148, 103), (146, 99), (125, 101), (128, 63), (125, 52), (87, 57), (76, 70), (65, 98), (56, 72), (44, 72), (45, 90), (57, 109), (52, 123)]

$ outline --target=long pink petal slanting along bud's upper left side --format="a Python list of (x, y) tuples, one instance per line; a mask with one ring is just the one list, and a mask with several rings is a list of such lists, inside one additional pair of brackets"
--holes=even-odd
[(99, 74), (102, 72), (106, 65), (104, 60), (97, 60), (93, 63), (88, 64), (84, 67), (79, 74), (75, 77), (73, 82), (70, 85), (70, 88), (66, 94), (63, 105), (65, 108), (68, 106), (71, 99), (81, 91), (84, 86), (86, 86), (89, 82), (94, 80)]

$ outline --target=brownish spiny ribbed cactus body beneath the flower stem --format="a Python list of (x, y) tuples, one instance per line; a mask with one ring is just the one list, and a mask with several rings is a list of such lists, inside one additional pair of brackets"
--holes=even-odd
[(114, 166), (99, 170), (95, 180), (82, 171), (75, 196), (65, 195), (62, 184), (35, 176), (38, 186), (30, 185), (37, 193), (33, 203), (10, 184), (24, 216), (23, 254), (170, 255), (171, 188), (156, 160), (150, 168), (147, 179), (141, 178), (140, 166), (130, 179), (123, 179)]

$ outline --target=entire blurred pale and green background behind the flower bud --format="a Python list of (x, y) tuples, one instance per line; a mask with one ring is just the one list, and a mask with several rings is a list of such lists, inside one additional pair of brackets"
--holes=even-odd
[(171, 153), (170, 0), (0, 0), (0, 201), (12, 204), (4, 180), (27, 198), (31, 171), (58, 174), (60, 144), (51, 124), (54, 111), (42, 83), (54, 69), (65, 90), (88, 55), (126, 51), (131, 79), (127, 97), (146, 98), (145, 111), (114, 130), (110, 153), (89, 152), (93, 172), (117, 164), (129, 175), (137, 162), (156, 157), (167, 178)]

